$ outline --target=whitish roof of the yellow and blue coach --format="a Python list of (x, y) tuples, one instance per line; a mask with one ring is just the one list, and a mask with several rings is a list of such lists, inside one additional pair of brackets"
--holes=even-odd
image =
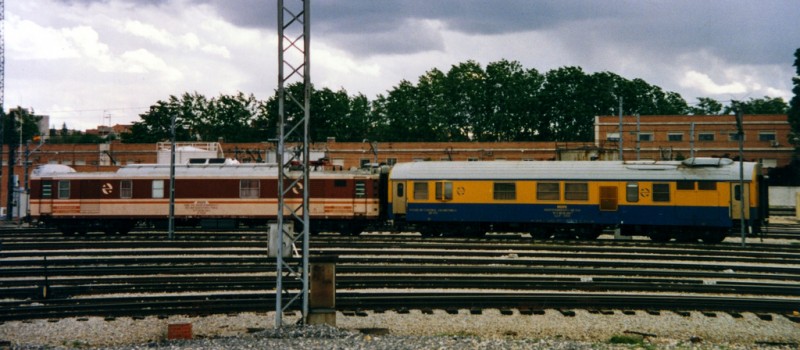
[[(744, 163), (744, 180), (756, 163)], [(623, 180), (739, 179), (739, 163), (725, 158), (681, 161), (484, 161), (413, 162), (394, 166), (391, 180)]]

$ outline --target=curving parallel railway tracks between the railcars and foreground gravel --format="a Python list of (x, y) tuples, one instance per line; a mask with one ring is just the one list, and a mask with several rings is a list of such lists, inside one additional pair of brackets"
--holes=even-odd
[[(27, 238), (26, 238), (27, 237)], [(225, 239), (225, 238), (228, 239)], [(271, 311), (258, 233), (0, 235), (0, 321)], [(787, 314), (800, 246), (319, 236), (339, 256), (337, 307), (615, 308)], [(299, 288), (289, 283), (287, 288)]]

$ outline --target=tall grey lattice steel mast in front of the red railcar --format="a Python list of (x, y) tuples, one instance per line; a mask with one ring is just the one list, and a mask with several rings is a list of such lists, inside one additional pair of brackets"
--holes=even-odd
[[(278, 0), (278, 232), (280, 241), (277, 256), (277, 281), (275, 295), (275, 327), (283, 326), (283, 311), (292, 303), (302, 299), (302, 322), (308, 317), (308, 240), (309, 240), (309, 211), (308, 211), (308, 172), (309, 172), (309, 138), (308, 124), (311, 106), (311, 78), (310, 78), (310, 0), (296, 0), (292, 6), (284, 6), (284, 0)], [(299, 3), (299, 4), (298, 4)], [(287, 58), (287, 55), (289, 56)], [(292, 60), (290, 62), (290, 60)], [(288, 74), (284, 69), (288, 68)], [(289, 82), (302, 81), (303, 96), (295, 96), (286, 88)], [(286, 103), (298, 107), (302, 115), (293, 115), (287, 118)], [(286, 155), (286, 143), (302, 143), (302, 150), (293, 153), (289, 159)], [(302, 159), (297, 159), (302, 157)], [(297, 203), (296, 195), (302, 192), (302, 203)], [(295, 233), (287, 220), (299, 224), (302, 232)], [(291, 266), (283, 259), (284, 240), (290, 240), (294, 245), (302, 241), (302, 261), (300, 266)], [(292, 295), (283, 290), (283, 277), (293, 277), (302, 280), (302, 290)], [(284, 305), (283, 296), (287, 300)]]

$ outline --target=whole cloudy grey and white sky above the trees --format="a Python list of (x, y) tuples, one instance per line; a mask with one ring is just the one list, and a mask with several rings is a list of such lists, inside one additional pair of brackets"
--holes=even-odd
[[(287, 5), (299, 3), (286, 0)], [(277, 88), (276, 0), (5, 1), (5, 106), (130, 123), (184, 92)], [(311, 77), (370, 99), (501, 59), (641, 78), (689, 103), (791, 98), (796, 0), (312, 0)]]

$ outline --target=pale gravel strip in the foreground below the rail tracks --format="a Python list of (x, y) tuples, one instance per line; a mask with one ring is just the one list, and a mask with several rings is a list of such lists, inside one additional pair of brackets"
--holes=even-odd
[[(469, 310), (432, 314), (411, 310), (337, 314), (338, 328), (288, 326), (276, 330), (274, 314), (242, 313), (207, 317), (147, 317), (106, 320), (89, 317), (7, 322), (0, 325), (0, 349), (114, 348), (114, 349), (588, 349), (616, 347), (613, 337), (638, 339), (658, 347), (753, 348), (767, 345), (797, 347), (800, 324), (781, 315), (765, 321), (754, 314), (734, 318), (691, 312), (688, 317), (662, 311), (612, 315), (575, 310), (564, 316), (556, 310), (544, 315), (501, 315), (494, 309), (474, 315)], [(297, 316), (284, 317), (291, 324)], [(195, 339), (167, 340), (170, 324), (191, 323)], [(0, 343), (3, 344), (3, 343)]]

